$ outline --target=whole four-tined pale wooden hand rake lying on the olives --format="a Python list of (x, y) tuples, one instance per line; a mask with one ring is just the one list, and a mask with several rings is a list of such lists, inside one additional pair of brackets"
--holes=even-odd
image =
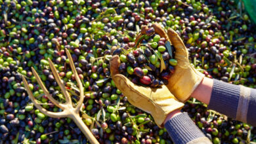
[(81, 81), (78, 77), (77, 71), (75, 70), (75, 65), (74, 65), (74, 62), (73, 62), (72, 57), (70, 55), (70, 52), (68, 52), (68, 49), (66, 49), (66, 54), (68, 55), (68, 59), (70, 60), (70, 67), (72, 69), (72, 72), (75, 75), (75, 81), (77, 81), (77, 84), (78, 84), (79, 90), (80, 90), (80, 98), (79, 98), (79, 101), (78, 101), (76, 107), (73, 107), (72, 100), (70, 98), (70, 94), (68, 94), (68, 91), (66, 90), (64, 84), (60, 80), (60, 76), (58, 75), (58, 73), (56, 71), (56, 68), (53, 65), (53, 62), (49, 58), (48, 58), (48, 60), (49, 60), (51, 70), (53, 71), (54, 78), (56, 79), (58, 85), (60, 86), (60, 89), (61, 89), (62, 93), (64, 94), (64, 96), (66, 98), (66, 103), (59, 103), (58, 101), (56, 101), (56, 99), (54, 99), (49, 94), (48, 90), (45, 88), (45, 85), (43, 84), (39, 75), (37, 74), (35, 69), (33, 69), (33, 67), (32, 67), (32, 73), (33, 73), (33, 75), (35, 75), (35, 79), (39, 83), (40, 87), (42, 88), (42, 90), (45, 93), (45, 95), (47, 96), (47, 98), (50, 99), (53, 102), (54, 105), (56, 105), (57, 107), (59, 107), (63, 111), (55, 113), (55, 112), (47, 111), (46, 109), (41, 107), (41, 105), (37, 102), (37, 99), (35, 99), (35, 97), (33, 96), (32, 91), (28, 87), (28, 82), (26, 81), (25, 77), (22, 76), (24, 86), (25, 86), (25, 88), (28, 92), (28, 95), (30, 96), (30, 99), (32, 100), (33, 104), (35, 105), (35, 107), (37, 107), (37, 109), (39, 109), (41, 111), (41, 113), (44, 113), (45, 115), (47, 115), (49, 117), (53, 117), (53, 118), (63, 118), (63, 117), (72, 118), (74, 120), (75, 124), (83, 132), (85, 137), (87, 137), (87, 139), (89, 139), (90, 143), (98, 143), (95, 136), (91, 133), (91, 131), (85, 125), (85, 123), (83, 122), (82, 118), (79, 115), (79, 111), (80, 111), (81, 105), (83, 104), (83, 98), (84, 98), (84, 96), (83, 96), (83, 86), (82, 86), (82, 83), (81, 83)]

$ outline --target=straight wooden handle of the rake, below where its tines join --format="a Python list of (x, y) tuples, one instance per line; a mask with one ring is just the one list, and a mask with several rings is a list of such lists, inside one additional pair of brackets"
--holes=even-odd
[(91, 133), (89, 128), (85, 125), (82, 118), (79, 116), (79, 114), (72, 115), (72, 119), (74, 120), (75, 124), (80, 128), (80, 130), (83, 132), (85, 137), (90, 141), (90, 143), (93, 144), (99, 144), (97, 139), (95, 138), (95, 135)]

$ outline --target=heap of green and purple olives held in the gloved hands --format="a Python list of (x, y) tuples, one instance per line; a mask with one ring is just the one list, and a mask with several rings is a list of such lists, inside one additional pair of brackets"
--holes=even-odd
[(119, 73), (135, 84), (156, 88), (168, 84), (168, 79), (175, 71), (177, 60), (174, 59), (174, 48), (168, 39), (157, 33), (160, 28), (142, 27), (135, 48), (117, 48), (113, 52), (119, 55), (121, 61)]

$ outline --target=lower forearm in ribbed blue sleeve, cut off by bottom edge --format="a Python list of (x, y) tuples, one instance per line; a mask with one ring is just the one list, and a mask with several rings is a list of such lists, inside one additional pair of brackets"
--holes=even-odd
[(187, 113), (173, 112), (164, 126), (174, 143), (211, 143)]

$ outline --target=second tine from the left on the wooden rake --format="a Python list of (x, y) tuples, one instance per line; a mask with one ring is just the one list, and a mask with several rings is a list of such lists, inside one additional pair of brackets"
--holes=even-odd
[[(58, 101), (56, 101), (52, 96), (51, 94), (49, 94), (47, 88), (45, 88), (45, 85), (43, 84), (43, 82), (41, 81), (39, 75), (37, 74), (37, 72), (35, 71), (35, 69), (32, 68), (32, 73), (33, 75), (35, 76), (35, 79), (37, 80), (39, 86), (42, 88), (43, 92), (45, 93), (45, 95), (47, 96), (47, 98), (50, 99), (50, 101), (52, 101), (52, 103), (54, 105), (56, 105), (57, 107), (59, 107), (60, 109), (64, 109), (64, 105), (62, 103), (59, 103)], [(28, 90), (27, 90), (28, 91)]]

